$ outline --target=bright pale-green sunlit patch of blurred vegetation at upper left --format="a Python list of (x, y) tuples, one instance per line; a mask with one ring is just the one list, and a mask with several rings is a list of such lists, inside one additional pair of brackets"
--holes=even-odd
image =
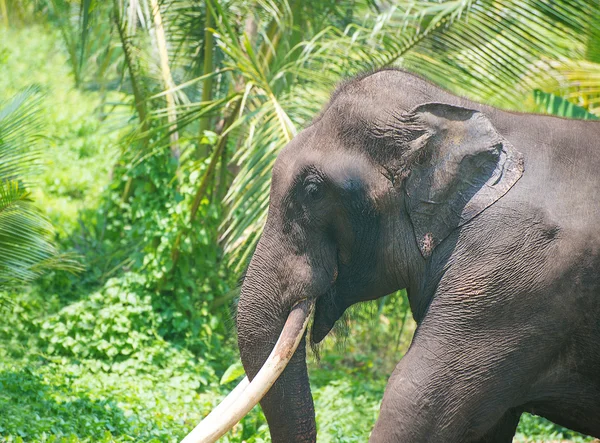
[(57, 34), (40, 25), (24, 31), (0, 28), (0, 52), (6, 54), (0, 98), (6, 100), (31, 83), (44, 96), (35, 114), (44, 137), (35, 138), (43, 150), (37, 151), (38, 174), (31, 192), (64, 239), (79, 226), (82, 209), (98, 206), (128, 116), (102, 102), (104, 97), (119, 103), (119, 93), (103, 96), (73, 89)]

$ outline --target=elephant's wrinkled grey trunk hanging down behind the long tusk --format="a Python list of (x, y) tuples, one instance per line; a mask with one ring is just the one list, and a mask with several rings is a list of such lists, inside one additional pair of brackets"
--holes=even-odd
[[(289, 304), (281, 302), (284, 295), (276, 287), (277, 279), (265, 279), (264, 275), (256, 279), (253, 265), (242, 287), (237, 316), (240, 355), (251, 380), (271, 353), (289, 313)], [(316, 441), (304, 332), (287, 367), (260, 404), (274, 443)]]

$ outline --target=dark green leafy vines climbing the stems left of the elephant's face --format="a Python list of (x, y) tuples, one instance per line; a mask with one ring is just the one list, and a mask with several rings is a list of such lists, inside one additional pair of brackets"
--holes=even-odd
[[(80, 231), (80, 239), (93, 246), (86, 248), (90, 283), (101, 282), (106, 290), (111, 285), (106, 279), (121, 269), (143, 273), (143, 281), (135, 287), (130, 285), (132, 279), (120, 280), (115, 291), (151, 294), (152, 309), (160, 315), (157, 331), (161, 336), (216, 358), (227, 347), (229, 312), (227, 304), (214, 307), (214, 303), (230, 291), (231, 284), (215, 247), (218, 208), (203, 201), (199, 208), (203, 224), (191, 229), (186, 209), (199, 174), (182, 174), (185, 181), (174, 189), (168, 153), (115, 172), (131, 178), (131, 198), (122, 199), (126, 179), (116, 182), (107, 189), (100, 211), (82, 219), (85, 231)], [(182, 229), (189, 233), (179, 244), (178, 266), (174, 267), (173, 245)], [(101, 269), (92, 267), (98, 262), (104, 262)], [(71, 287), (73, 293), (77, 290)]]

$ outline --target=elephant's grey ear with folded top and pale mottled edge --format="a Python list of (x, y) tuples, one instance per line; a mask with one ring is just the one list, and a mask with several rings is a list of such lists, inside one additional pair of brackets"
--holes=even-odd
[(410, 114), (426, 136), (412, 153), (407, 209), (421, 253), (428, 257), (519, 180), (523, 155), (481, 112), (429, 103)]

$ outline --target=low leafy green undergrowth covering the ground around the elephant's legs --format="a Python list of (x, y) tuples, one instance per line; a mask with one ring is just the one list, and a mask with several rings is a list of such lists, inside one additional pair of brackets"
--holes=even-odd
[[(118, 283), (58, 310), (56, 299), (31, 292), (3, 311), (0, 441), (175, 442), (234, 386), (235, 376), (220, 385), (214, 365), (163, 340), (149, 299), (111, 290)], [(320, 442), (367, 441), (377, 419), (388, 373), (382, 349), (365, 344), (369, 321), (360, 320), (343, 345), (328, 340), (320, 361), (311, 359)], [(222, 441), (269, 440), (255, 408)], [(554, 440), (586, 441), (523, 417), (516, 441)]]

